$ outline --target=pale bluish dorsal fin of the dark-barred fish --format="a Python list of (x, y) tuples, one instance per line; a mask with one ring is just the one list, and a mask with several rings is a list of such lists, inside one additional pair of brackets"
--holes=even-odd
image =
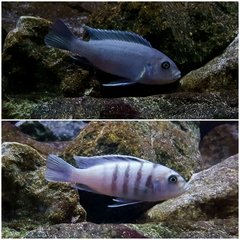
[(147, 160), (126, 156), (126, 155), (102, 155), (102, 156), (93, 156), (93, 157), (81, 157), (74, 156), (76, 165), (78, 168), (89, 168), (95, 165), (104, 164), (106, 162), (123, 162), (123, 161), (135, 161), (135, 162), (149, 162)]

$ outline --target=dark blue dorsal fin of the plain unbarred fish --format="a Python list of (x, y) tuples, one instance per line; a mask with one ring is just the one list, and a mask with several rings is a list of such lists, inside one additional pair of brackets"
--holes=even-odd
[(90, 36), (90, 40), (120, 40), (126, 42), (139, 43), (148, 47), (152, 47), (150, 42), (141, 37), (140, 35), (132, 32), (118, 31), (118, 30), (104, 30), (95, 29), (88, 26), (84, 26), (84, 29)]

